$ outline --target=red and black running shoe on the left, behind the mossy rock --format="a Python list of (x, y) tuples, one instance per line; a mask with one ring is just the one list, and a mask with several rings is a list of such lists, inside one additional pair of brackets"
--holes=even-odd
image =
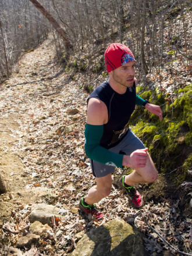
[(90, 221), (90, 217), (97, 219), (98, 221), (101, 221), (102, 218), (104, 218), (104, 214), (102, 212), (99, 212), (98, 209), (95, 207), (94, 204), (84, 205), (83, 204), (83, 197), (80, 200), (79, 208), (81, 212), (86, 214), (87, 219)]

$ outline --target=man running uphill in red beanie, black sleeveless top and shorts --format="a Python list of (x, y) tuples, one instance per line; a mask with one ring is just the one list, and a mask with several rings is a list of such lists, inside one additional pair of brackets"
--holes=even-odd
[(80, 210), (102, 219), (95, 203), (111, 193), (112, 172), (115, 167), (133, 168), (129, 175), (120, 177), (134, 208), (143, 206), (143, 198), (134, 187), (136, 183), (151, 183), (158, 177), (148, 148), (129, 128), (129, 119), (136, 105), (143, 106), (162, 120), (161, 108), (136, 94), (136, 60), (123, 44), (111, 44), (105, 51), (108, 81), (100, 84), (88, 98), (85, 150), (90, 158), (96, 185), (80, 200)]

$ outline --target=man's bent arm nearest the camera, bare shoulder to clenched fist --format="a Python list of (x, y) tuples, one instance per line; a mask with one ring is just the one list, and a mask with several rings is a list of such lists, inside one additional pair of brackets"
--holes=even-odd
[(122, 168), (144, 167), (147, 161), (147, 149), (136, 150), (130, 156), (113, 153), (99, 145), (102, 137), (103, 125), (108, 122), (108, 111), (104, 102), (91, 98), (87, 106), (87, 125), (85, 130), (85, 150), (88, 158), (107, 164), (110, 162)]

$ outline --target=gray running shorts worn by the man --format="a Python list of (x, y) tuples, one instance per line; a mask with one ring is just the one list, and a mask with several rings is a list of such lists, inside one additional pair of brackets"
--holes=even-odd
[[(120, 143), (115, 147), (109, 148), (109, 150), (117, 154), (130, 155), (133, 151), (141, 150), (142, 148), (145, 148), (144, 144), (140, 141), (136, 134), (129, 129), (125, 138), (123, 138), (123, 140), (120, 141)], [(115, 166), (104, 165), (103, 163), (99, 163), (92, 159), (90, 159), (90, 163), (93, 175), (95, 177), (104, 177), (115, 170)]]

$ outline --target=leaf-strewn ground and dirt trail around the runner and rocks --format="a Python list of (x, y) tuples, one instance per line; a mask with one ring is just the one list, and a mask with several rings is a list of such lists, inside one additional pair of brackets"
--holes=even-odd
[[(24, 55), (12, 77), (0, 86), (0, 171), (7, 186), (0, 195), (0, 253), (67, 255), (88, 230), (123, 219), (147, 236), (145, 247), (150, 255), (179, 255), (147, 226), (146, 218), (168, 243), (192, 255), (190, 183), (175, 186), (169, 180), (171, 173), (160, 173), (154, 184), (138, 186), (145, 206), (136, 211), (117, 184), (127, 170), (117, 169), (111, 195), (98, 204), (104, 221), (87, 222), (79, 215), (79, 200), (95, 183), (84, 154), (88, 97), (84, 84), (88, 80), (99, 84), (103, 77), (77, 73), (74, 78), (54, 56), (49, 38)], [(19, 239), (29, 233), (29, 216), (42, 203), (54, 205), (65, 218), (52, 214), (51, 231), (30, 248), (30, 254)]]

